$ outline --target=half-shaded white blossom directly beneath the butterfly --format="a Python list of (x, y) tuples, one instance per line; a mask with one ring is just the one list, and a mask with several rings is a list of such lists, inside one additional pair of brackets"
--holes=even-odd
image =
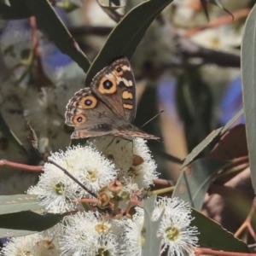
[[(97, 148), (109, 160), (112, 160), (119, 172), (119, 181), (134, 179), (139, 189), (148, 189), (158, 177), (156, 164), (152, 159), (146, 141), (142, 138), (131, 140), (119, 137), (99, 137), (90, 140), (90, 145)], [(134, 163), (134, 157), (141, 158), (141, 163)]]

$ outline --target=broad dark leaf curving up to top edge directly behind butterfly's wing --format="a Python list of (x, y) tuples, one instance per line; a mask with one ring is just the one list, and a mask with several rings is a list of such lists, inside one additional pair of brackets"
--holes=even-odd
[(151, 0), (131, 9), (108, 36), (106, 44), (90, 66), (85, 85), (89, 86), (96, 73), (106, 67), (113, 58), (125, 55), (131, 59), (148, 26), (171, 2), (172, 0)]

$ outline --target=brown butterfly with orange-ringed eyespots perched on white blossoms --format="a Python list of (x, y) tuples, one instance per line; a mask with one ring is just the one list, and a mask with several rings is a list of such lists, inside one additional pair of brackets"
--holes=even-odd
[(74, 126), (74, 139), (106, 135), (159, 139), (131, 125), (136, 110), (134, 74), (127, 58), (121, 57), (97, 73), (90, 87), (74, 94), (67, 103), (65, 123)]

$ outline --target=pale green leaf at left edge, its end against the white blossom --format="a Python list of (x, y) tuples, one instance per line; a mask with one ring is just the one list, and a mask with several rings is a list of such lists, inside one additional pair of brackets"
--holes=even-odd
[(37, 195), (1, 195), (0, 215), (27, 210), (43, 209), (38, 204)]

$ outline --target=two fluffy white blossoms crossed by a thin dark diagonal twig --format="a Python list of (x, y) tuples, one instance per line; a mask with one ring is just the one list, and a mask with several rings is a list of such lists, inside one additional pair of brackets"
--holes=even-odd
[[(66, 152), (51, 154), (49, 160), (65, 168), (94, 193), (116, 177), (113, 164), (94, 148), (67, 148)], [(75, 210), (77, 200), (90, 196), (78, 183), (49, 163), (44, 165), (38, 184), (28, 189), (27, 194), (38, 195), (46, 211), (54, 213)]]

